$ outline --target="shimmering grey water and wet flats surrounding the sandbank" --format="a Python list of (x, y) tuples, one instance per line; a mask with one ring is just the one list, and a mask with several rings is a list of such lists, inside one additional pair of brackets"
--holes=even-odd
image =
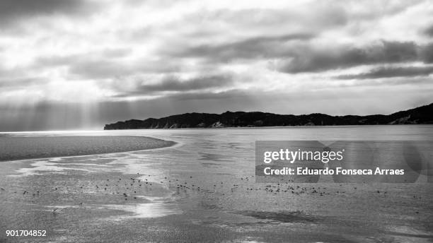
[[(255, 183), (255, 141), (432, 141), (433, 126), (53, 131), (175, 146), (0, 162), (6, 242), (432, 242), (432, 184)], [(425, 153), (432, 155), (432, 150)], [(6, 237), (5, 230), (47, 230)]]

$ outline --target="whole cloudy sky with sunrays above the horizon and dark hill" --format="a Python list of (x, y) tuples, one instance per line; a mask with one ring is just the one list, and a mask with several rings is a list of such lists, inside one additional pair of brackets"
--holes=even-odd
[(0, 131), (433, 102), (432, 1), (0, 0)]

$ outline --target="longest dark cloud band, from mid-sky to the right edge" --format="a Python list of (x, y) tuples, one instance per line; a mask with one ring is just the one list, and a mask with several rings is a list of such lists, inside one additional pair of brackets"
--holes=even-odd
[[(208, 63), (221, 63), (237, 59), (280, 59), (272, 69), (283, 73), (321, 72), (370, 64), (396, 64), (411, 61), (433, 63), (433, 44), (420, 46), (416, 42), (375, 42), (364, 47), (315, 46), (308, 40), (316, 37), (298, 33), (275, 37), (253, 37), (238, 42), (218, 45), (198, 45), (168, 50), (168, 57), (195, 57)], [(181, 49), (181, 50), (179, 50)]]

